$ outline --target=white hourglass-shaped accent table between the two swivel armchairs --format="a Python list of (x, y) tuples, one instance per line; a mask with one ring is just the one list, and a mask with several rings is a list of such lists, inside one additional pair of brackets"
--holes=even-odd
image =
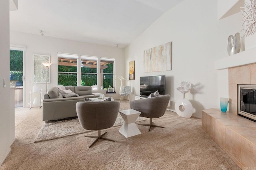
[(139, 117), (141, 112), (136, 111), (134, 109), (128, 109), (128, 110), (119, 111), (119, 113), (124, 119), (124, 124), (119, 129), (119, 132), (122, 135), (124, 135), (126, 138), (129, 138), (131, 136), (141, 134), (139, 128), (135, 124), (135, 121)]

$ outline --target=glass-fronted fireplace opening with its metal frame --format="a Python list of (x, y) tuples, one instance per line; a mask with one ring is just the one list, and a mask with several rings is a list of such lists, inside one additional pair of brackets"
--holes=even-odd
[(256, 122), (256, 85), (238, 85), (238, 115)]

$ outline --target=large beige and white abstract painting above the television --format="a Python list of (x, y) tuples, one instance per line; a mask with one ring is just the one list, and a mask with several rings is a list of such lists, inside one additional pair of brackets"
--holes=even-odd
[(172, 42), (144, 51), (144, 72), (172, 70)]

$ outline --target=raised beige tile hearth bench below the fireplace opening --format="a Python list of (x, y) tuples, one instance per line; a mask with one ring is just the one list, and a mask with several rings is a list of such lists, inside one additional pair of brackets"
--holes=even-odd
[(241, 169), (256, 169), (256, 123), (220, 109), (202, 111), (202, 129)]

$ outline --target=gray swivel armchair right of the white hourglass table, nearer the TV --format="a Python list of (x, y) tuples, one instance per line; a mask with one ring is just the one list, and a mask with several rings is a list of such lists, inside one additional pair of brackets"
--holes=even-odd
[(130, 108), (136, 111), (141, 112), (140, 117), (149, 118), (149, 124), (139, 124), (143, 126), (149, 126), (148, 131), (151, 127), (160, 127), (161, 126), (153, 125), (152, 118), (162, 117), (166, 111), (170, 100), (170, 95), (160, 95), (157, 97), (151, 97), (147, 99), (140, 99), (130, 101)]

